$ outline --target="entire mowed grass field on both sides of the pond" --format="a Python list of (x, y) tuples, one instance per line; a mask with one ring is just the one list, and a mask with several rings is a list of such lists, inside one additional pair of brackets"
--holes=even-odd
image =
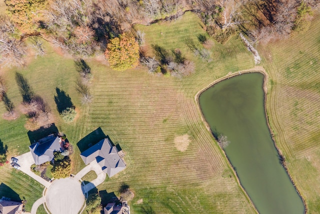
[[(319, 89), (307, 87), (313, 87), (309, 83), (314, 83), (316, 71), (319, 71), (320, 38), (316, 34), (319, 23), (317, 19), (310, 29), (316, 38), (311, 38), (310, 32), (300, 36), (305, 41), (299, 44), (300, 48), (296, 45), (299, 38), (294, 38), (260, 51), (264, 57), (262, 65), (272, 80), (267, 99), (271, 127), (286, 157), (289, 171), (313, 212), (320, 209), (316, 207), (320, 204), (317, 180), (320, 165), (316, 158), (320, 154), (316, 145), (320, 115), (314, 108), (319, 103)], [(127, 168), (112, 178), (106, 178), (98, 190), (118, 195), (120, 183), (127, 183), (135, 194), (130, 202), (133, 213), (141, 213), (143, 208), (151, 208), (157, 213), (253, 213), (254, 209), (239, 187), (226, 158), (201, 121), (194, 101), (194, 95), (217, 78), (252, 68), (253, 57), (236, 37), (225, 45), (213, 42), (210, 63), (194, 57), (184, 40), (190, 37), (197, 41), (197, 36), (205, 32), (199, 19), (191, 13), (176, 21), (136, 26), (136, 29), (145, 33), (146, 47), (157, 44), (167, 50), (180, 49), (188, 60), (194, 61), (195, 74), (177, 79), (150, 75), (143, 67), (116, 72), (95, 59), (88, 59), (93, 74), (90, 88), (94, 97), (91, 104), (81, 106), (80, 97), (74, 89), (78, 74), (72, 58), (62, 56), (46, 44), (45, 56), (29, 57), (26, 68), (0, 71), (6, 80), (9, 98), (19, 106), (22, 99), (14, 72), (20, 72), (28, 79), (34, 92), (49, 103), (56, 127), (67, 135), (73, 145), (73, 173), (84, 166), (76, 143), (87, 134), (100, 127), (113, 142), (118, 142), (126, 154)], [(152, 54), (150, 49), (147, 53)], [(287, 57), (283, 53), (292, 55)], [(301, 55), (308, 56), (312, 64), (302, 60)], [(300, 73), (297, 74), (297, 70)], [(317, 78), (319, 82), (319, 74)], [(71, 124), (63, 123), (59, 118), (53, 99), (56, 87), (69, 94), (76, 107), (78, 117)], [(301, 93), (293, 94), (292, 90)], [(0, 104), (0, 114), (4, 111)], [(23, 127), (25, 121), (23, 115), (9, 122), (0, 119), (0, 139), (8, 146), (9, 157), (28, 151), (30, 141), (28, 130)], [(186, 135), (189, 143), (181, 152), (174, 139)], [(7, 166), (0, 168), (0, 174), (5, 174), (0, 177), (0, 182), (21, 198), (24, 196), (28, 201), (26, 208), (30, 210), (32, 201), (40, 197), (42, 188), (37, 187), (34, 181), (32, 186), (38, 193), (30, 195), (29, 189), (17, 186), (23, 184), (15, 180), (31, 178)], [(306, 183), (306, 179), (310, 181)]]

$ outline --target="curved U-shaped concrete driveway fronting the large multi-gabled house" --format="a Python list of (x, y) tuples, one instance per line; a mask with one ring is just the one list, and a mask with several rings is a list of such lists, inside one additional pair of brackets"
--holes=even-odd
[(75, 176), (74, 179), (80, 180), (81, 177), (83, 177), (86, 173), (93, 170), (96, 173), (96, 178), (92, 180), (91, 182), (85, 184), (82, 186), (82, 192), (83, 194), (86, 194), (88, 191), (93, 189), (94, 187), (101, 184), (106, 177), (106, 174), (102, 171), (101, 166), (96, 162), (96, 160), (93, 160), (91, 163), (89, 163), (87, 166), (85, 166), (81, 171), (79, 171)]

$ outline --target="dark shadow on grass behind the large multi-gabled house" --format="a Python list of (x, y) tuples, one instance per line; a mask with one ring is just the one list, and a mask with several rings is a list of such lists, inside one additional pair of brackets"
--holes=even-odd
[[(85, 137), (83, 137), (79, 142), (77, 142), (77, 147), (79, 148), (80, 152), (82, 153), (86, 149), (90, 148), (103, 138), (105, 138), (105, 134), (103, 133), (101, 127), (95, 129)], [(111, 141), (112, 142), (112, 141)]]

